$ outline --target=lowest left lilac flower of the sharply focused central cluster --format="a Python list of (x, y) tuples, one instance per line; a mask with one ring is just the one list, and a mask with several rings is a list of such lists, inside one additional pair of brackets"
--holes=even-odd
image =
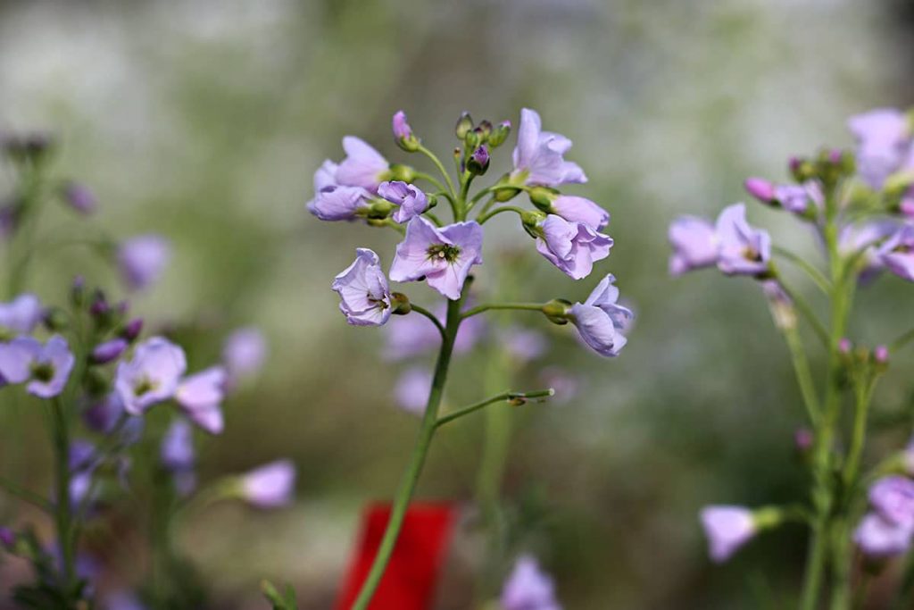
[(335, 277), (331, 288), (340, 295), (340, 311), (349, 324), (381, 326), (388, 321), (390, 288), (374, 251), (357, 248), (356, 261)]

